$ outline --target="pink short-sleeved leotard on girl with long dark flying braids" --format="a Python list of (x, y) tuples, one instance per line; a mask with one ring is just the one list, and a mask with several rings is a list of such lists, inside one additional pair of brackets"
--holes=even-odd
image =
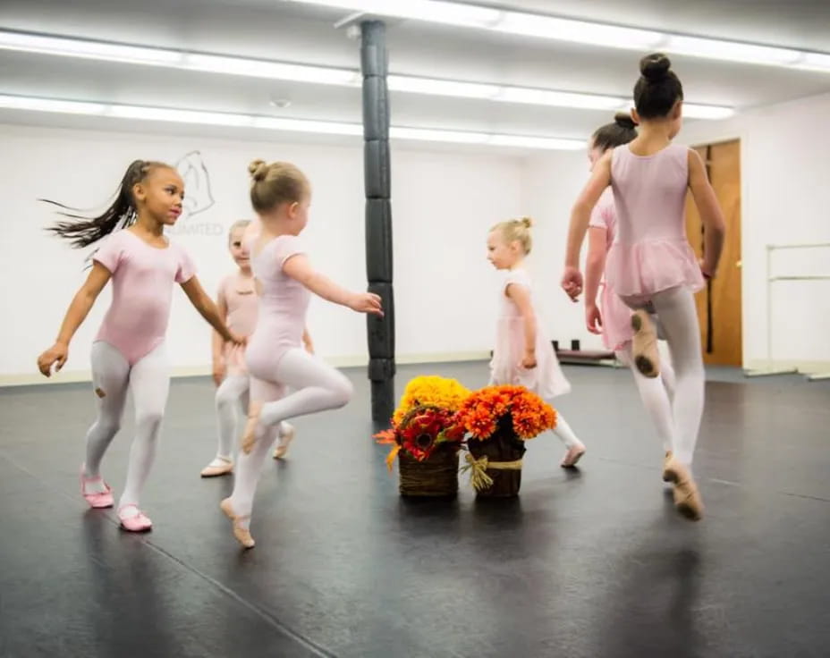
[(159, 249), (130, 230), (108, 236), (93, 259), (113, 281), (113, 301), (95, 340), (112, 345), (133, 366), (165, 340), (173, 284), (189, 281), (195, 267), (173, 242)]

